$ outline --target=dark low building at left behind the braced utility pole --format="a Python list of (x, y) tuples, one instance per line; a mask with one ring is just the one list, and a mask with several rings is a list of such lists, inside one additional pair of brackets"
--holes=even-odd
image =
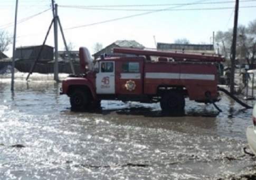
[[(23, 46), (16, 48), (17, 59), (36, 59), (39, 55), (42, 45), (39, 46)], [(53, 60), (53, 47), (44, 45), (42, 53), (39, 58), (40, 61), (52, 61)]]

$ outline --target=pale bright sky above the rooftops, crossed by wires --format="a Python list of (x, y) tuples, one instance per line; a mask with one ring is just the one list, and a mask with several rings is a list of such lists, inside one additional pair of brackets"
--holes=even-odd
[[(235, 5), (234, 0), (55, 0), (55, 3), (59, 6), (58, 14), (67, 42), (73, 44), (74, 51), (85, 46), (91, 54), (94, 53), (93, 47), (96, 43), (105, 47), (124, 39), (155, 48), (154, 36), (156, 42), (162, 43), (174, 43), (175, 39), (187, 38), (193, 44), (210, 44), (213, 32), (232, 28)], [(113, 5), (126, 6), (112, 7)], [(94, 9), (88, 9), (88, 6), (93, 6), (90, 8)], [(244, 6), (250, 8), (243, 8)], [(230, 9), (220, 9), (224, 7)], [(256, 0), (240, 0), (240, 7), (239, 24), (248, 25), (256, 19)], [(47, 9), (49, 10), (46, 11)], [(41, 12), (43, 13), (36, 15)], [(144, 15), (134, 16), (143, 13)], [(0, 31), (13, 35), (14, 15), (15, 0), (0, 0)], [(16, 47), (42, 44), (52, 16), (51, 0), (18, 0)], [(97, 24), (127, 16), (132, 17)], [(20, 22), (21, 20), (24, 21)], [(79, 27), (73, 28), (77, 26)], [(58, 43), (59, 51), (63, 50), (60, 30)], [(53, 28), (46, 44), (54, 46)], [(12, 45), (5, 54), (12, 56)]]

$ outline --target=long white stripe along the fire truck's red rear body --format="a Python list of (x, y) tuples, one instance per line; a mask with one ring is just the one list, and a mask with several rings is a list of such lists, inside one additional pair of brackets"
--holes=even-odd
[(187, 74), (187, 73), (146, 73), (150, 79), (196, 79), (214, 81), (214, 74)]

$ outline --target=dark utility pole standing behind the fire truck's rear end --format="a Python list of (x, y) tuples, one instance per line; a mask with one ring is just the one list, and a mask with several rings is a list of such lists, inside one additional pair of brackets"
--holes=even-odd
[(233, 28), (233, 41), (232, 41), (231, 77), (230, 77), (230, 93), (231, 94), (234, 94), (235, 53), (236, 53), (236, 34), (238, 30), (238, 10), (239, 10), (239, 0), (236, 0), (234, 28)]

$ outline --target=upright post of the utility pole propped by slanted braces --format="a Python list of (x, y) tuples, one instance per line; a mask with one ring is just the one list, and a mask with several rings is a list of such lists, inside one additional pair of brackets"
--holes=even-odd
[(58, 5), (52, 0), (52, 14), (54, 27), (54, 80), (59, 81), (59, 64), (58, 64)]

